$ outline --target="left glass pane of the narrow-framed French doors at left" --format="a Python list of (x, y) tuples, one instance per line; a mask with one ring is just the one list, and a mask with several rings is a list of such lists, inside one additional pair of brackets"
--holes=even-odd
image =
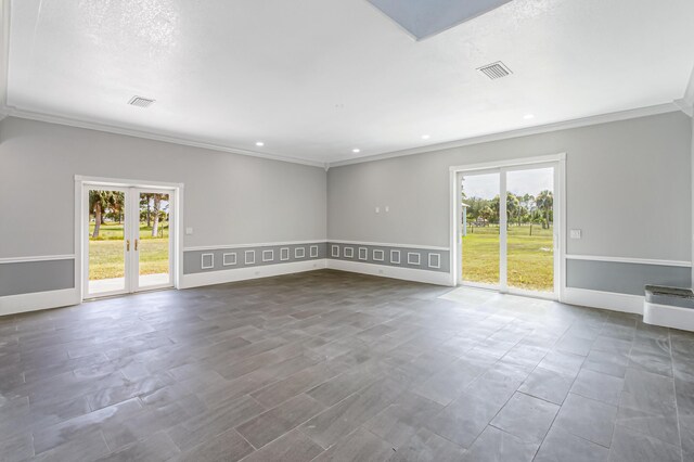
[(126, 291), (126, 194), (90, 189), (89, 195), (89, 295)]

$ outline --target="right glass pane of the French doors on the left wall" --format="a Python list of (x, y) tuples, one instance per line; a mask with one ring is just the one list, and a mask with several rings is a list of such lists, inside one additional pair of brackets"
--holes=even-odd
[(169, 255), (170, 193), (139, 192), (137, 239), (138, 286), (152, 288), (171, 283)]

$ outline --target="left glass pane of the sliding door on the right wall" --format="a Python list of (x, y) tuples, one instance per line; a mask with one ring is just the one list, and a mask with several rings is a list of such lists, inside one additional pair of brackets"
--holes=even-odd
[(499, 172), (465, 175), (462, 180), (463, 282), (498, 286)]

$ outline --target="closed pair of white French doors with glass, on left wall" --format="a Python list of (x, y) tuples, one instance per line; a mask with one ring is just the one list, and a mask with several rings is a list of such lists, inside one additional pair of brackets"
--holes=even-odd
[(174, 285), (174, 191), (85, 185), (87, 298)]

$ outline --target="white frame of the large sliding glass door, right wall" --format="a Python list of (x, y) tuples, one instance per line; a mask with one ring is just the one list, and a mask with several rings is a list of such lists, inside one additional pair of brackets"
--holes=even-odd
[[(566, 154), (560, 153), (554, 155), (524, 157), (509, 161), (488, 162), (480, 164), (458, 165), (449, 168), (450, 178), (450, 248), (451, 248), (451, 285), (461, 285), (462, 281), (462, 223), (460, 217), (462, 214), (461, 180), (463, 174), (484, 174), (484, 172), (501, 172), (510, 170), (522, 170), (530, 168), (541, 168), (542, 166), (553, 166), (554, 168), (554, 292), (549, 294), (547, 298), (564, 299), (564, 287), (566, 278)], [(500, 190), (505, 191), (505, 175), (500, 175)], [(500, 208), (500, 227), (506, 222), (506, 202), (499, 202)], [(478, 286), (484, 288), (500, 290), (505, 287), (506, 280), (506, 245), (505, 235), (500, 233), (500, 274), (499, 286), (465, 283), (465, 285)], [(543, 297), (541, 293), (523, 291), (518, 288), (507, 288), (505, 292), (517, 295), (529, 295)]]

